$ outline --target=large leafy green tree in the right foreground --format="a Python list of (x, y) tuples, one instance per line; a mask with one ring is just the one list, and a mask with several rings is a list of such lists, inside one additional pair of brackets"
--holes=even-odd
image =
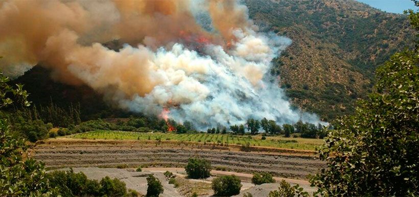
[[(417, 2), (416, 2), (417, 5)], [(419, 30), (418, 13), (410, 11)], [(417, 196), (419, 53), (394, 54), (377, 69), (375, 91), (335, 124), (319, 148), (327, 167), (312, 178), (324, 196)]]

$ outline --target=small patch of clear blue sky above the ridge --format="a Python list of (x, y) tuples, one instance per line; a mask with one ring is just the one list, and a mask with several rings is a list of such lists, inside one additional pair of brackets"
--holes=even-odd
[(403, 13), (403, 10), (417, 8), (414, 6), (414, 3), (411, 0), (357, 0), (370, 5), (371, 7), (378, 8), (382, 11), (392, 12), (392, 13)]

